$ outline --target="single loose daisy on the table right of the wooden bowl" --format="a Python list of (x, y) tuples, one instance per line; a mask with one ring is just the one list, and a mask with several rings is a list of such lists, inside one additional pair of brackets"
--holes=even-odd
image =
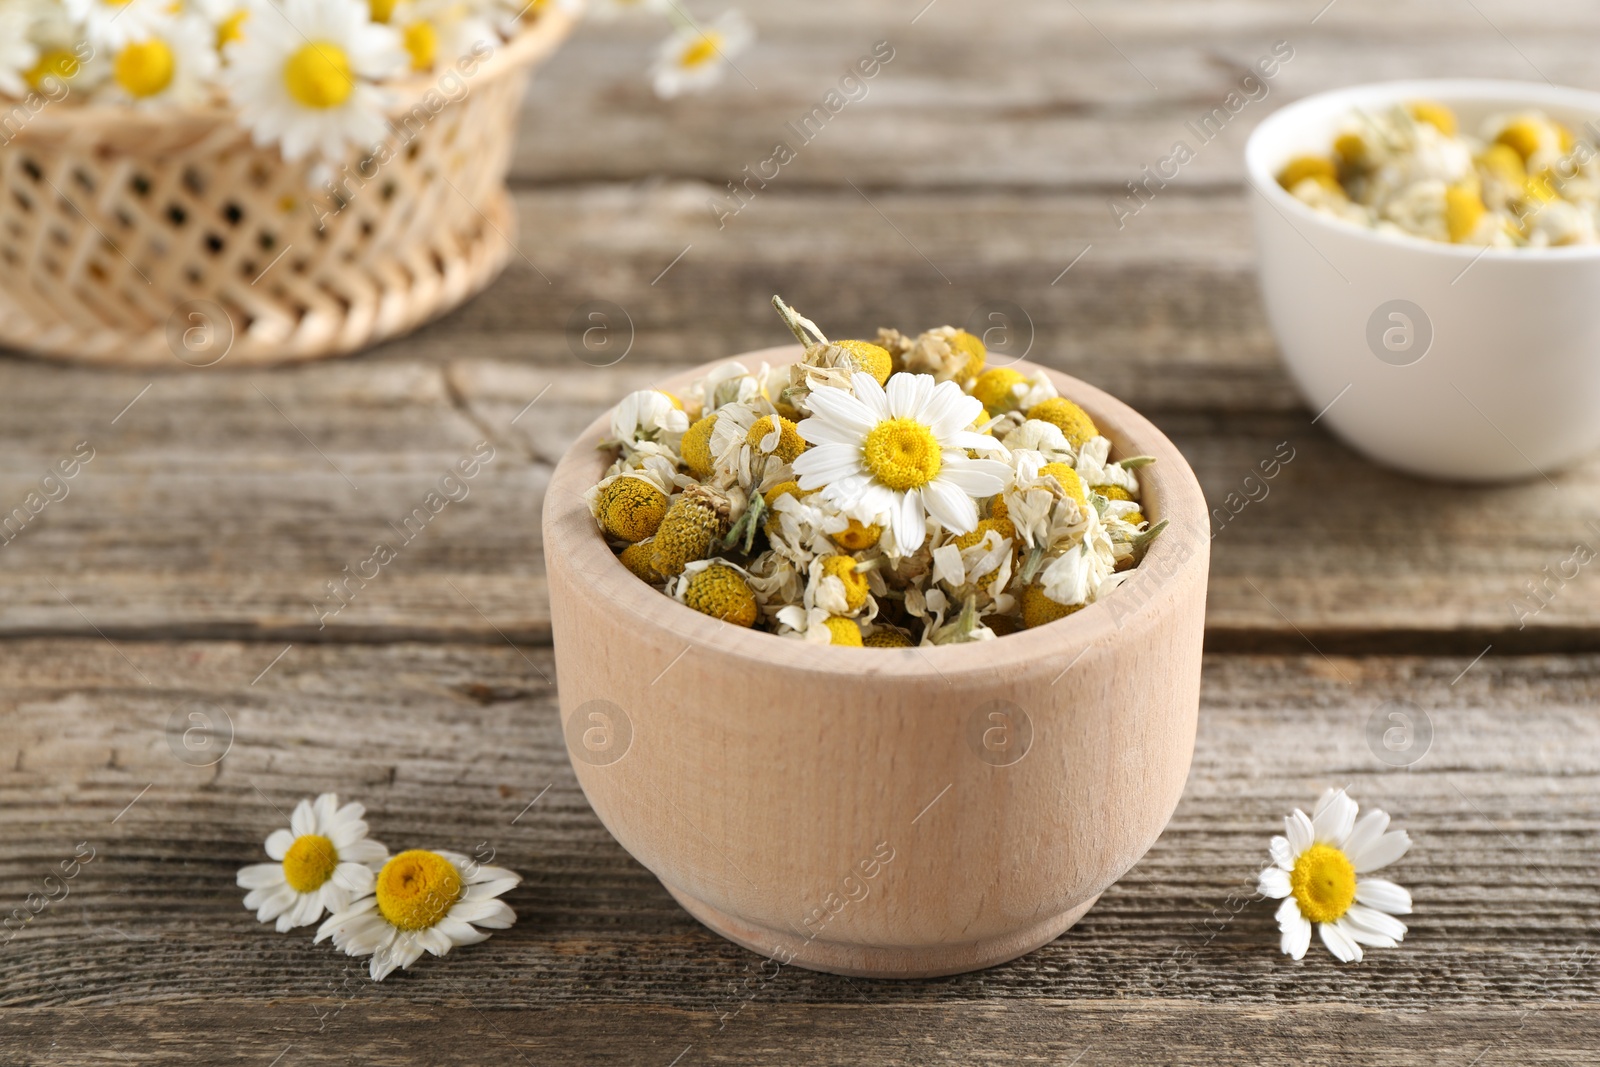
[[(1283, 953), (1304, 958), (1310, 926), (1344, 963), (1360, 963), (1362, 945), (1392, 949), (1405, 937), (1395, 915), (1411, 913), (1411, 894), (1384, 878), (1362, 878), (1411, 848), (1405, 830), (1389, 830), (1389, 816), (1373, 809), (1355, 819), (1357, 805), (1330, 789), (1310, 817), (1299, 808), (1285, 816), (1285, 837), (1272, 838), (1272, 865), (1261, 872), (1261, 893), (1283, 901), (1278, 929)], [(1386, 830), (1389, 830), (1386, 833)]]

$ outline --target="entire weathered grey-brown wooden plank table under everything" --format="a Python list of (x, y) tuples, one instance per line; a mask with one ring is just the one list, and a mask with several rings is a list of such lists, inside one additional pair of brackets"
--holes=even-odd
[[(1266, 330), (1240, 179), (1248, 128), (1309, 91), (1597, 88), (1600, 13), (1325, 2), (750, 2), (746, 77), (672, 104), (640, 74), (654, 27), (590, 26), (530, 93), (518, 254), (446, 322), (278, 371), (0, 362), (0, 509), (94, 450), (0, 547), (0, 910), (93, 849), (0, 945), (0, 1062), (1600, 1062), (1600, 577), (1525, 625), (1514, 606), (1600, 544), (1600, 461), (1450, 488), (1314, 426)], [(867, 98), (718, 229), (707, 200), (878, 40), (894, 58)], [(1294, 56), (1267, 98), (1118, 229), (1123, 184), (1278, 40)], [(1021, 306), (1030, 358), (1144, 410), (1213, 504), (1294, 450), (1216, 531), (1170, 829), (1016, 963), (763, 981), (606, 835), (568, 768), (546, 681), (550, 464), (622, 392), (782, 342), (774, 291), (838, 334)], [(590, 299), (634, 326), (603, 370), (568, 347)], [(320, 627), (323, 584), (480, 440), (496, 459), (470, 496)], [(1368, 744), (1389, 701), (1434, 731), (1410, 766)], [(197, 709), (230, 723), (211, 766), (171, 747)], [(1411, 934), (1360, 966), (1280, 957), (1253, 896), (1282, 814), (1326, 785), (1416, 840), (1395, 869)], [(390, 845), (488, 843), (526, 878), (517, 926), (382, 985), (258, 926), (234, 872), (322, 790), (363, 800)]]

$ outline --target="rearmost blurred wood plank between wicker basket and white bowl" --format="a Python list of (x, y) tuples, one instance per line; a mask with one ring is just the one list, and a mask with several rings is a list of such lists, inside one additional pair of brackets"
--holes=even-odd
[[(1181, 184), (1237, 184), (1248, 131), (1274, 107), (1360, 82), (1416, 77), (1600, 83), (1592, 5), (1448, 0), (1229, 0), (1005, 8), (925, 0), (744, 3), (760, 40), (709, 96), (658, 101), (645, 78), (654, 21), (586, 26), (534, 80), (522, 117), (523, 182), (739, 179), (782, 139), (782, 184), (877, 187), (1106, 187), (1224, 104), (1277, 42), (1293, 59), (1266, 96), (1200, 149)], [(1318, 14), (1320, 13), (1320, 14)], [(1315, 18), (1315, 22), (1312, 19)], [(866, 96), (803, 142), (786, 123), (822, 102), (845, 70), (890, 42)], [(754, 86), (754, 88), (752, 88)], [(858, 91), (859, 96), (859, 91)]]

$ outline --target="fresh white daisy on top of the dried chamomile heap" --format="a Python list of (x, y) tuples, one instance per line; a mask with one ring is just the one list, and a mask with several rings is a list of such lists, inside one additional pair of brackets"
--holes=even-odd
[(901, 553), (915, 552), (931, 517), (950, 533), (978, 528), (973, 498), (1000, 493), (1011, 469), (995, 459), (970, 459), (968, 448), (990, 451), (992, 437), (966, 427), (982, 403), (955, 382), (930, 374), (894, 374), (888, 389), (872, 374), (851, 374), (854, 389), (811, 392), (811, 418), (800, 437), (813, 448), (794, 461), (802, 490), (862, 523), (883, 523)]

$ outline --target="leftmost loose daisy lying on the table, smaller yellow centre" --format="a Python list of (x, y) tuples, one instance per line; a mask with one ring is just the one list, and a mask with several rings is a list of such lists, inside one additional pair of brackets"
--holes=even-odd
[(362, 805), (341, 808), (336, 793), (294, 805), (290, 829), (267, 837), (267, 856), (275, 862), (238, 872), (238, 886), (250, 889), (245, 907), (254, 909), (256, 921), (277, 920), (282, 934), (371, 893), (373, 864), (381, 864), (389, 849), (366, 837), (363, 814)]

